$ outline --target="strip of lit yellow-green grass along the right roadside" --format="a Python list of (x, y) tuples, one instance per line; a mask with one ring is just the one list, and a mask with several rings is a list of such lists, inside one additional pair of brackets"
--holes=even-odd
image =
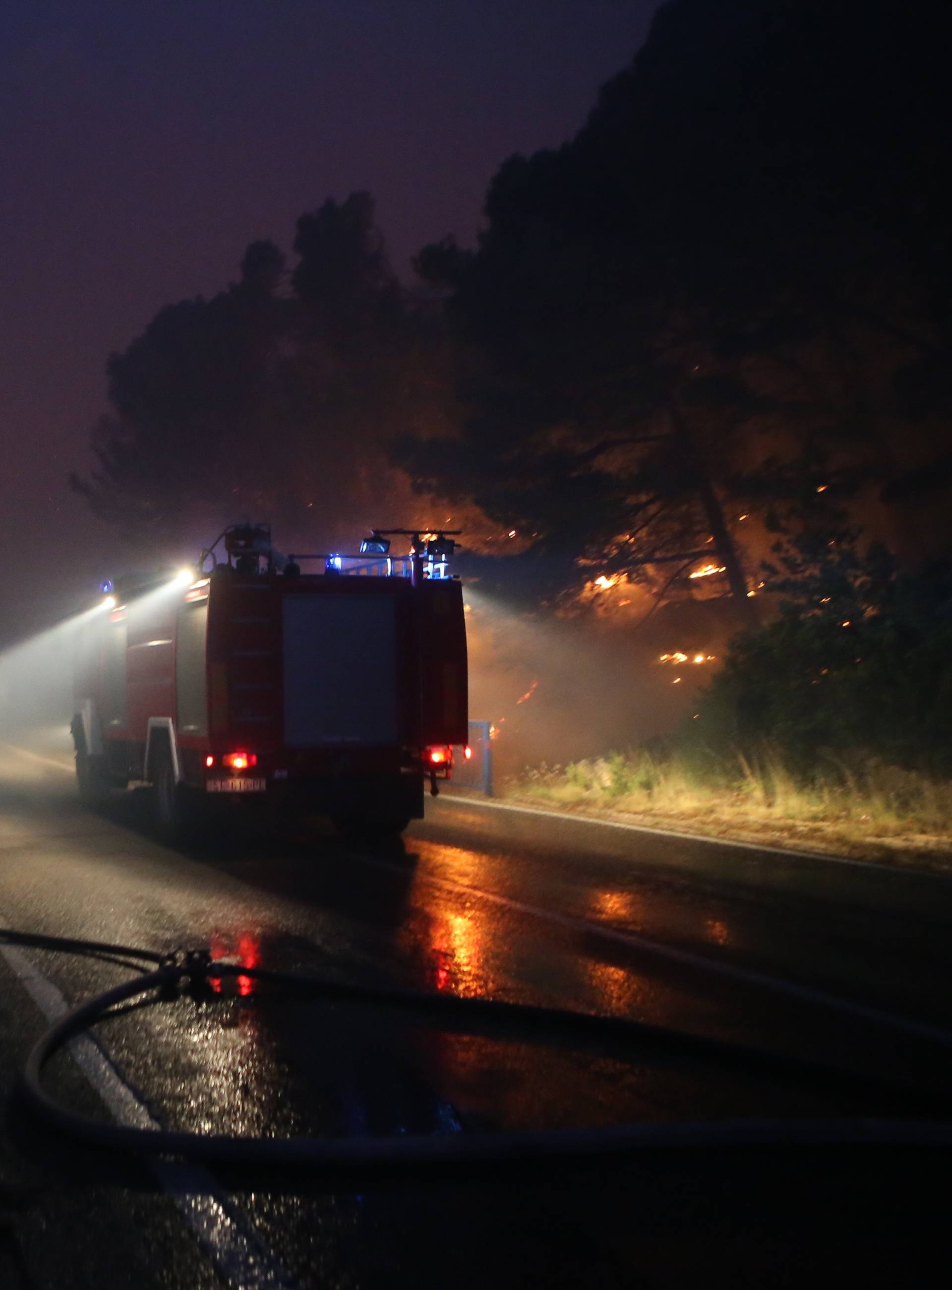
[(952, 871), (952, 780), (828, 756), (809, 780), (770, 748), (733, 764), (645, 751), (526, 768), (503, 796), (659, 828)]

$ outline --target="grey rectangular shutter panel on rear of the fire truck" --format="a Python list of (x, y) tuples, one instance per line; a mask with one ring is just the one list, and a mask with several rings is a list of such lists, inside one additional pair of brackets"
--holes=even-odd
[(325, 592), (281, 601), (285, 744), (396, 744), (393, 597)]

